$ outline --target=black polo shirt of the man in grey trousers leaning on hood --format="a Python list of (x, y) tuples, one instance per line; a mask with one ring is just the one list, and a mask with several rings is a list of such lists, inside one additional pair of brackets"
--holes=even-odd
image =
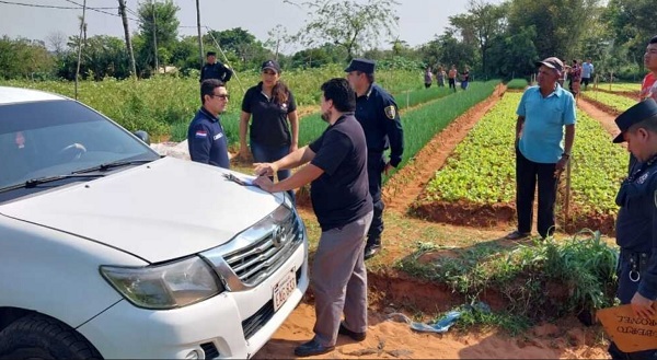
[(312, 208), (323, 231), (339, 228), (372, 211), (362, 128), (347, 114), (309, 144), (311, 164), (324, 173), (311, 183)]

